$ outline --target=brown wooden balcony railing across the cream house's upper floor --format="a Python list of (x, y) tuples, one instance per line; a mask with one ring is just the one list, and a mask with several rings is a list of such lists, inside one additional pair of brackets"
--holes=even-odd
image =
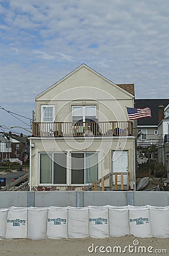
[(131, 136), (132, 122), (33, 122), (35, 137)]

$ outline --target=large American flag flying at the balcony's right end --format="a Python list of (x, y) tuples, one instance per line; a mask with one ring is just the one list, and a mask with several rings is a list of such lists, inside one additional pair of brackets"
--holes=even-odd
[(150, 108), (136, 109), (136, 108), (126, 108), (129, 120), (139, 119), (143, 117), (151, 117)]

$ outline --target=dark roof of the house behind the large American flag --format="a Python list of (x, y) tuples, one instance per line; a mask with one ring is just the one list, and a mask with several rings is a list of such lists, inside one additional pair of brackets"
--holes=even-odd
[(166, 107), (169, 104), (168, 98), (158, 98), (158, 99), (140, 99), (135, 100), (135, 108), (150, 108), (151, 117), (140, 118), (137, 120), (137, 125), (158, 125), (158, 106), (163, 105)]

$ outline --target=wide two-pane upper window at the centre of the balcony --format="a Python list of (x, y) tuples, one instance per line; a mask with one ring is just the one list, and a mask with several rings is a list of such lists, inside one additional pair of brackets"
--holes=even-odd
[(72, 119), (73, 122), (95, 121), (96, 106), (73, 106)]

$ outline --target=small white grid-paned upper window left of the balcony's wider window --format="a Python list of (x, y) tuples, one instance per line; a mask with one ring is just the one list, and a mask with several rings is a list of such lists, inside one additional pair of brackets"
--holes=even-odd
[(54, 121), (54, 105), (41, 105), (41, 121), (42, 122)]

